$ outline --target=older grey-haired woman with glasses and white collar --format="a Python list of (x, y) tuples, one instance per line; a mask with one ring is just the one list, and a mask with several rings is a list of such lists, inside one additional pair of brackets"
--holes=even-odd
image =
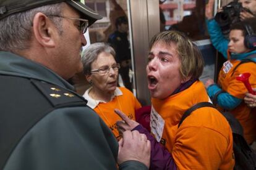
[(135, 119), (135, 110), (141, 105), (132, 92), (125, 87), (117, 87), (120, 65), (114, 56), (114, 49), (105, 43), (92, 44), (83, 52), (83, 71), (92, 86), (83, 97), (119, 139), (116, 121), (121, 118), (114, 113), (114, 108), (127, 113), (130, 119)]

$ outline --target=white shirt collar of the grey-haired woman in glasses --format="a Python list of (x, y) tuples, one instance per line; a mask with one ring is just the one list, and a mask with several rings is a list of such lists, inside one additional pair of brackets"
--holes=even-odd
[[(83, 98), (85, 98), (88, 102), (87, 105), (88, 107), (94, 109), (95, 107), (97, 107), (97, 105), (101, 102), (101, 103), (106, 103), (103, 100), (94, 100), (92, 99), (92, 97), (90, 97), (89, 92), (92, 89), (92, 87), (90, 87), (89, 89), (87, 89), (87, 91), (85, 91), (85, 94), (83, 94)], [(114, 94), (111, 96), (111, 100), (114, 99), (114, 97), (118, 96), (118, 95), (122, 95), (122, 91), (116, 87), (116, 89), (114, 90)]]

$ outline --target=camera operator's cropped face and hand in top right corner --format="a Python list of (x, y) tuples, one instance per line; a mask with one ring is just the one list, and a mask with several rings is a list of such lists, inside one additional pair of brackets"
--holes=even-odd
[(242, 3), (242, 7), (249, 9), (250, 12), (247, 12), (246, 10), (242, 10), (240, 12), (240, 18), (241, 20), (249, 19), (256, 17), (256, 0), (239, 0), (239, 2)]

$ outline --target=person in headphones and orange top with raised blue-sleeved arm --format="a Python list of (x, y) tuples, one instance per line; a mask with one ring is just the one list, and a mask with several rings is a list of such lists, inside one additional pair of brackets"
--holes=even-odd
[[(211, 0), (210, 2), (212, 3)], [(256, 115), (243, 102), (247, 89), (241, 81), (236, 79), (236, 76), (245, 72), (250, 73), (250, 84), (256, 87), (256, 50), (255, 47), (248, 45), (248, 39), (245, 40), (249, 34), (254, 34), (248, 31), (256, 30), (256, 20), (249, 19), (233, 23), (228, 40), (224, 38), (220, 26), (213, 19), (213, 5), (207, 5), (205, 17), (213, 46), (227, 59), (220, 70), (218, 83), (208, 79), (205, 87), (220, 110), (230, 111), (239, 120), (247, 143), (252, 144), (256, 139)]]

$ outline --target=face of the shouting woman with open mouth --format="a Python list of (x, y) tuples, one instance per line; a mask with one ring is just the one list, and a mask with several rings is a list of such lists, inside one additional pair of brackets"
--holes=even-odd
[(148, 54), (147, 78), (151, 97), (166, 99), (183, 83), (176, 44), (156, 42)]

